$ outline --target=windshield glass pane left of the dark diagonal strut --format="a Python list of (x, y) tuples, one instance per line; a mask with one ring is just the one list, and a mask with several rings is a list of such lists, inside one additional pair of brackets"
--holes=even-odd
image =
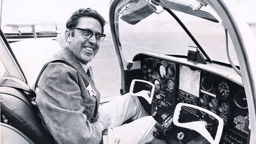
[(138, 52), (186, 55), (188, 45), (196, 46), (166, 11), (160, 15), (153, 13), (136, 25), (120, 20), (119, 30), (127, 60)]

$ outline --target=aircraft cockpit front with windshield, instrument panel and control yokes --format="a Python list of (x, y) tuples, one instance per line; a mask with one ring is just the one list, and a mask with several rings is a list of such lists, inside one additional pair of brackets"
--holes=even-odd
[[(140, 90), (151, 91), (140, 101), (158, 122), (153, 134), (158, 139), (186, 144), (202, 135), (206, 142), (216, 144), (250, 141), (252, 123), (241, 76), (243, 64), (234, 50), (238, 39), (234, 38), (232, 20), (221, 8), (223, 3), (113, 0), (110, 4), (112, 39), (123, 70), (120, 91), (138, 92), (137, 96)], [(177, 32), (179, 28), (183, 34)], [(212, 35), (214, 31), (218, 34)], [(200, 32), (205, 34), (203, 39)], [(138, 41), (134, 39), (141, 45), (136, 47)], [(134, 57), (129, 56), (131, 53)]]

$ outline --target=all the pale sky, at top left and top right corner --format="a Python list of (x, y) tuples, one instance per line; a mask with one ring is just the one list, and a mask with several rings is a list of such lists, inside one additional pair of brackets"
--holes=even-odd
[[(256, 0), (225, 0), (247, 22), (256, 22)], [(108, 20), (110, 0), (2, 0), (2, 22), (66, 21), (79, 8), (90, 7)]]

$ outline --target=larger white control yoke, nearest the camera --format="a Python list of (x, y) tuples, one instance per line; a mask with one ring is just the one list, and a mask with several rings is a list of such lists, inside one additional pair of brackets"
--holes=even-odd
[[(179, 114), (182, 109), (182, 106), (186, 107), (192, 107), (197, 110), (201, 110), (203, 112), (206, 112), (207, 114), (210, 114), (214, 118), (216, 118), (219, 121), (217, 133), (215, 136), (215, 139), (212, 138), (210, 133), (207, 131), (206, 126), (207, 123), (205, 121), (195, 121), (195, 122), (189, 122), (189, 123), (179, 123)], [(173, 115), (173, 124), (178, 126), (178, 127), (184, 127), (187, 129), (193, 129), (194, 131), (197, 131), (200, 133), (206, 140), (208, 140), (211, 144), (219, 144), (219, 141), (221, 140), (221, 134), (223, 131), (223, 120), (217, 116), (217, 114), (214, 114), (213, 112), (210, 112), (209, 110), (206, 110), (202, 107), (196, 106), (196, 105), (191, 105), (187, 103), (178, 103), (175, 107), (174, 115)]]

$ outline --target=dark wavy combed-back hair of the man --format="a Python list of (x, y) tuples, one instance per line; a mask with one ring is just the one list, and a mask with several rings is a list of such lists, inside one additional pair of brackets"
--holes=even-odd
[[(90, 8), (76, 10), (68, 19), (66, 28), (72, 30), (72, 27), (77, 26), (78, 20), (81, 17), (92, 17), (97, 19), (101, 23), (101, 32), (104, 32), (104, 26), (106, 23), (105, 19), (97, 11)], [(71, 36), (74, 36), (74, 31), (71, 33)]]

